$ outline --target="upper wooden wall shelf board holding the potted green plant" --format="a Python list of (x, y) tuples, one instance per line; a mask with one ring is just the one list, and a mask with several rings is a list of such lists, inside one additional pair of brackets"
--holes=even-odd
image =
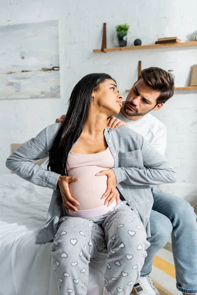
[(94, 49), (94, 53), (100, 52), (115, 52), (115, 51), (129, 51), (129, 50), (142, 50), (142, 49), (160, 49), (160, 48), (172, 48), (172, 47), (186, 47), (197, 46), (197, 41), (183, 42), (183, 43), (165, 43), (165, 44), (153, 44), (153, 45), (140, 45), (140, 46), (126, 46), (126, 47), (114, 47), (114, 48), (102, 48)]

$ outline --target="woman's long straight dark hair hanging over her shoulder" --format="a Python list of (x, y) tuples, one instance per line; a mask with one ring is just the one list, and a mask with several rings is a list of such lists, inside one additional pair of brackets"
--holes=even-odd
[(91, 105), (92, 92), (97, 91), (99, 85), (107, 79), (112, 78), (108, 74), (93, 73), (86, 75), (75, 85), (68, 100), (66, 118), (49, 151), (48, 170), (50, 167), (51, 171), (61, 175), (66, 174), (67, 156), (83, 131)]

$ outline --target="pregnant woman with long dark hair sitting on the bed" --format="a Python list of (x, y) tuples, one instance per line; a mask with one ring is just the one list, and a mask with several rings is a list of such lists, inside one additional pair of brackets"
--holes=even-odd
[[(129, 295), (149, 246), (149, 184), (175, 181), (173, 168), (142, 136), (125, 126), (107, 128), (122, 98), (109, 75), (85, 76), (71, 93), (64, 122), (42, 130), (6, 161), (19, 176), (55, 190), (37, 242), (54, 238), (60, 295), (87, 294), (89, 262), (105, 247), (108, 294)], [(48, 171), (33, 163), (47, 155)]]

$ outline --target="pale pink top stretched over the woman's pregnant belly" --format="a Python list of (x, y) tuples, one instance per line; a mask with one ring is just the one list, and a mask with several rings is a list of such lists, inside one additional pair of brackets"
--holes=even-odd
[(110, 206), (100, 199), (107, 189), (107, 176), (95, 176), (101, 170), (114, 167), (114, 158), (109, 148), (94, 154), (76, 154), (70, 152), (67, 157), (68, 176), (79, 177), (77, 182), (69, 184), (71, 196), (79, 202), (78, 211), (69, 211), (71, 216), (94, 217), (104, 214), (116, 206), (116, 200)]

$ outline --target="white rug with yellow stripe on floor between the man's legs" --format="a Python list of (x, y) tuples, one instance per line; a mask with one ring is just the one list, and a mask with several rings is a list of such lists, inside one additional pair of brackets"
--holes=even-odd
[[(151, 278), (159, 290), (160, 295), (181, 295), (176, 289), (175, 267), (171, 250), (171, 243), (167, 243), (158, 252), (153, 262)], [(131, 294), (135, 294), (133, 290)]]

